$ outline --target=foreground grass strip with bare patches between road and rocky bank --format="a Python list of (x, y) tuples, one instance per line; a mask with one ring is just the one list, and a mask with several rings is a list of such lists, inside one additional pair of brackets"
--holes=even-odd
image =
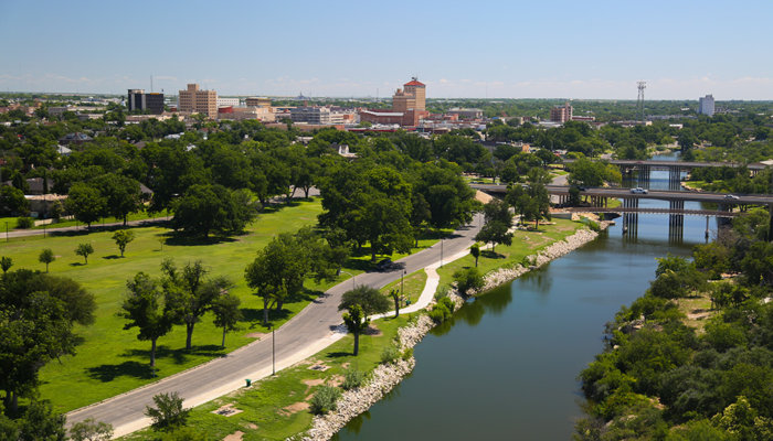
[[(189, 427), (195, 428), (207, 440), (222, 440), (236, 431), (244, 432), (243, 440), (285, 440), (311, 427), (313, 415), (308, 404), (315, 390), (322, 384), (339, 385), (346, 368), (361, 372), (373, 370), (381, 361), (383, 349), (392, 344), (398, 329), (404, 326), (411, 315), (382, 319), (374, 324), (379, 334), (360, 336), (360, 354), (351, 355), (353, 337), (347, 335), (313, 357), (253, 383), (250, 388), (218, 398), (193, 409)], [(313, 366), (322, 366), (322, 370)], [(214, 413), (224, 406), (240, 410), (225, 417)], [(121, 438), (123, 440), (148, 439), (151, 429)]]

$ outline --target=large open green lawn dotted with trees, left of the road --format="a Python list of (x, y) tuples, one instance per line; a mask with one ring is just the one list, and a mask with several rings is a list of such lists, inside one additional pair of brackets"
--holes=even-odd
[[(248, 226), (247, 234), (220, 241), (183, 241), (170, 236), (170, 230), (161, 226), (135, 227), (131, 230), (136, 238), (128, 245), (125, 258), (119, 257), (112, 230), (91, 234), (84, 230), (46, 238), (29, 236), (3, 241), (0, 255), (13, 259), (12, 269), (45, 270), (38, 256), (43, 248), (51, 248), (56, 256), (56, 260), (50, 265), (51, 273), (81, 282), (96, 298), (95, 323), (77, 330), (84, 340), (77, 347), (77, 354), (62, 357), (61, 363), (51, 362), (41, 370), (40, 390), (43, 398), (50, 399), (56, 411), (70, 411), (197, 366), (254, 341), (246, 335), (265, 332), (266, 329), (260, 324), (262, 301), (246, 286), (244, 268), (276, 234), (315, 225), (319, 213), (319, 201), (267, 208)], [(163, 239), (163, 245), (159, 239)], [(414, 251), (435, 241), (435, 238), (426, 237), (420, 240)], [(95, 250), (88, 257), (88, 265), (84, 265), (83, 258), (75, 255), (75, 248), (82, 243), (91, 243)], [(394, 255), (392, 258), (403, 256)], [(242, 299), (245, 319), (241, 331), (229, 334), (225, 348), (220, 347), (222, 331), (215, 329), (211, 314), (204, 315), (197, 324), (191, 351), (184, 351), (184, 326), (176, 326), (158, 341), (156, 378), (148, 365), (150, 343), (137, 340), (137, 329), (124, 331), (126, 321), (117, 318), (116, 313), (125, 295), (126, 281), (138, 271), (159, 277), (160, 263), (165, 258), (173, 258), (180, 267), (202, 260), (210, 275), (229, 277), (234, 282), (231, 292)], [(361, 273), (371, 267), (369, 259), (370, 254), (366, 248), (362, 256), (350, 259), (345, 270), (352, 275)], [(282, 325), (305, 308), (315, 291), (324, 291), (347, 278), (349, 276), (342, 273), (332, 282), (307, 281), (306, 295), (285, 303), (282, 311), (272, 311), (273, 324)]]

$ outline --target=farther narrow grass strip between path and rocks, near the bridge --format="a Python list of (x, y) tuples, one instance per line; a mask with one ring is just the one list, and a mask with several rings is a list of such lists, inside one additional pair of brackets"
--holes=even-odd
[[(519, 229), (512, 236), (512, 245), (497, 245), (494, 251), (489, 247), (480, 250), (478, 271), (486, 275), (500, 268), (512, 268), (521, 263), (525, 257), (534, 255), (555, 241), (563, 240), (582, 227), (582, 223), (553, 219), (552, 225), (540, 224), (539, 230), (536, 232)], [(437, 273), (441, 276), (438, 289), (449, 286), (454, 281), (454, 272), (474, 266), (475, 258), (467, 255), (438, 268)]]

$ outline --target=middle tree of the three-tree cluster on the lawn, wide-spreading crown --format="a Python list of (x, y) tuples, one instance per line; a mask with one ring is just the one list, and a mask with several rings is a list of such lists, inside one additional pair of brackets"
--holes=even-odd
[(190, 351), (193, 327), (232, 283), (225, 278), (204, 280), (208, 271), (201, 260), (187, 263), (182, 271), (178, 271), (171, 259), (165, 259), (161, 270), (165, 272), (162, 284), (167, 304), (174, 322), (186, 325), (186, 349)]

